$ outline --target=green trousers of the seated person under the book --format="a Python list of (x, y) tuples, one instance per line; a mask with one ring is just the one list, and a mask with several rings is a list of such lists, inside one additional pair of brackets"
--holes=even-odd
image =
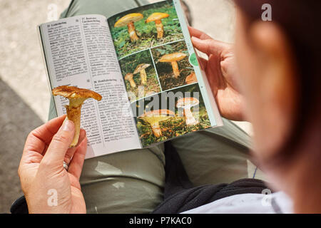
[[(71, 1), (61, 17), (81, 14), (112, 16), (145, 0)], [(49, 119), (56, 117), (51, 100)], [(193, 185), (233, 182), (248, 173), (250, 138), (229, 120), (172, 140)], [(85, 160), (81, 190), (88, 213), (148, 213), (162, 202), (165, 184), (163, 145), (129, 150)]]

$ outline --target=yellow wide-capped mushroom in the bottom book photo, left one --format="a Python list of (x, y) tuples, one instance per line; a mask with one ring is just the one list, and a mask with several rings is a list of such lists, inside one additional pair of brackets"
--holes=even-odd
[(153, 135), (156, 138), (160, 138), (163, 133), (159, 123), (164, 120), (168, 120), (175, 115), (173, 111), (167, 109), (160, 109), (160, 110), (153, 110), (143, 115), (139, 116), (138, 119), (141, 120), (143, 123), (147, 123), (151, 126), (151, 130), (153, 131)]

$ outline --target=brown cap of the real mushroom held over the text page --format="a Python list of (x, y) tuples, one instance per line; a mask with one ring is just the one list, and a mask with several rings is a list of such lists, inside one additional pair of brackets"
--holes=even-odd
[(62, 95), (68, 99), (77, 99), (77, 98), (93, 98), (96, 100), (101, 100), (101, 95), (87, 90), (86, 88), (78, 88), (75, 86), (58, 86), (52, 90), (53, 95)]

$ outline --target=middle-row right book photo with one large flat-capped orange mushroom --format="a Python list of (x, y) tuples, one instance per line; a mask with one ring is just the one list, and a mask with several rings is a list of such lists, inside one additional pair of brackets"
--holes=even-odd
[(152, 48), (151, 53), (163, 90), (198, 82), (184, 41)]

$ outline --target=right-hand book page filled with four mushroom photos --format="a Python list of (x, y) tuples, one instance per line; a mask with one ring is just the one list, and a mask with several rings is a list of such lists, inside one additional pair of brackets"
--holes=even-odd
[(179, 0), (108, 19), (143, 147), (221, 125)]

